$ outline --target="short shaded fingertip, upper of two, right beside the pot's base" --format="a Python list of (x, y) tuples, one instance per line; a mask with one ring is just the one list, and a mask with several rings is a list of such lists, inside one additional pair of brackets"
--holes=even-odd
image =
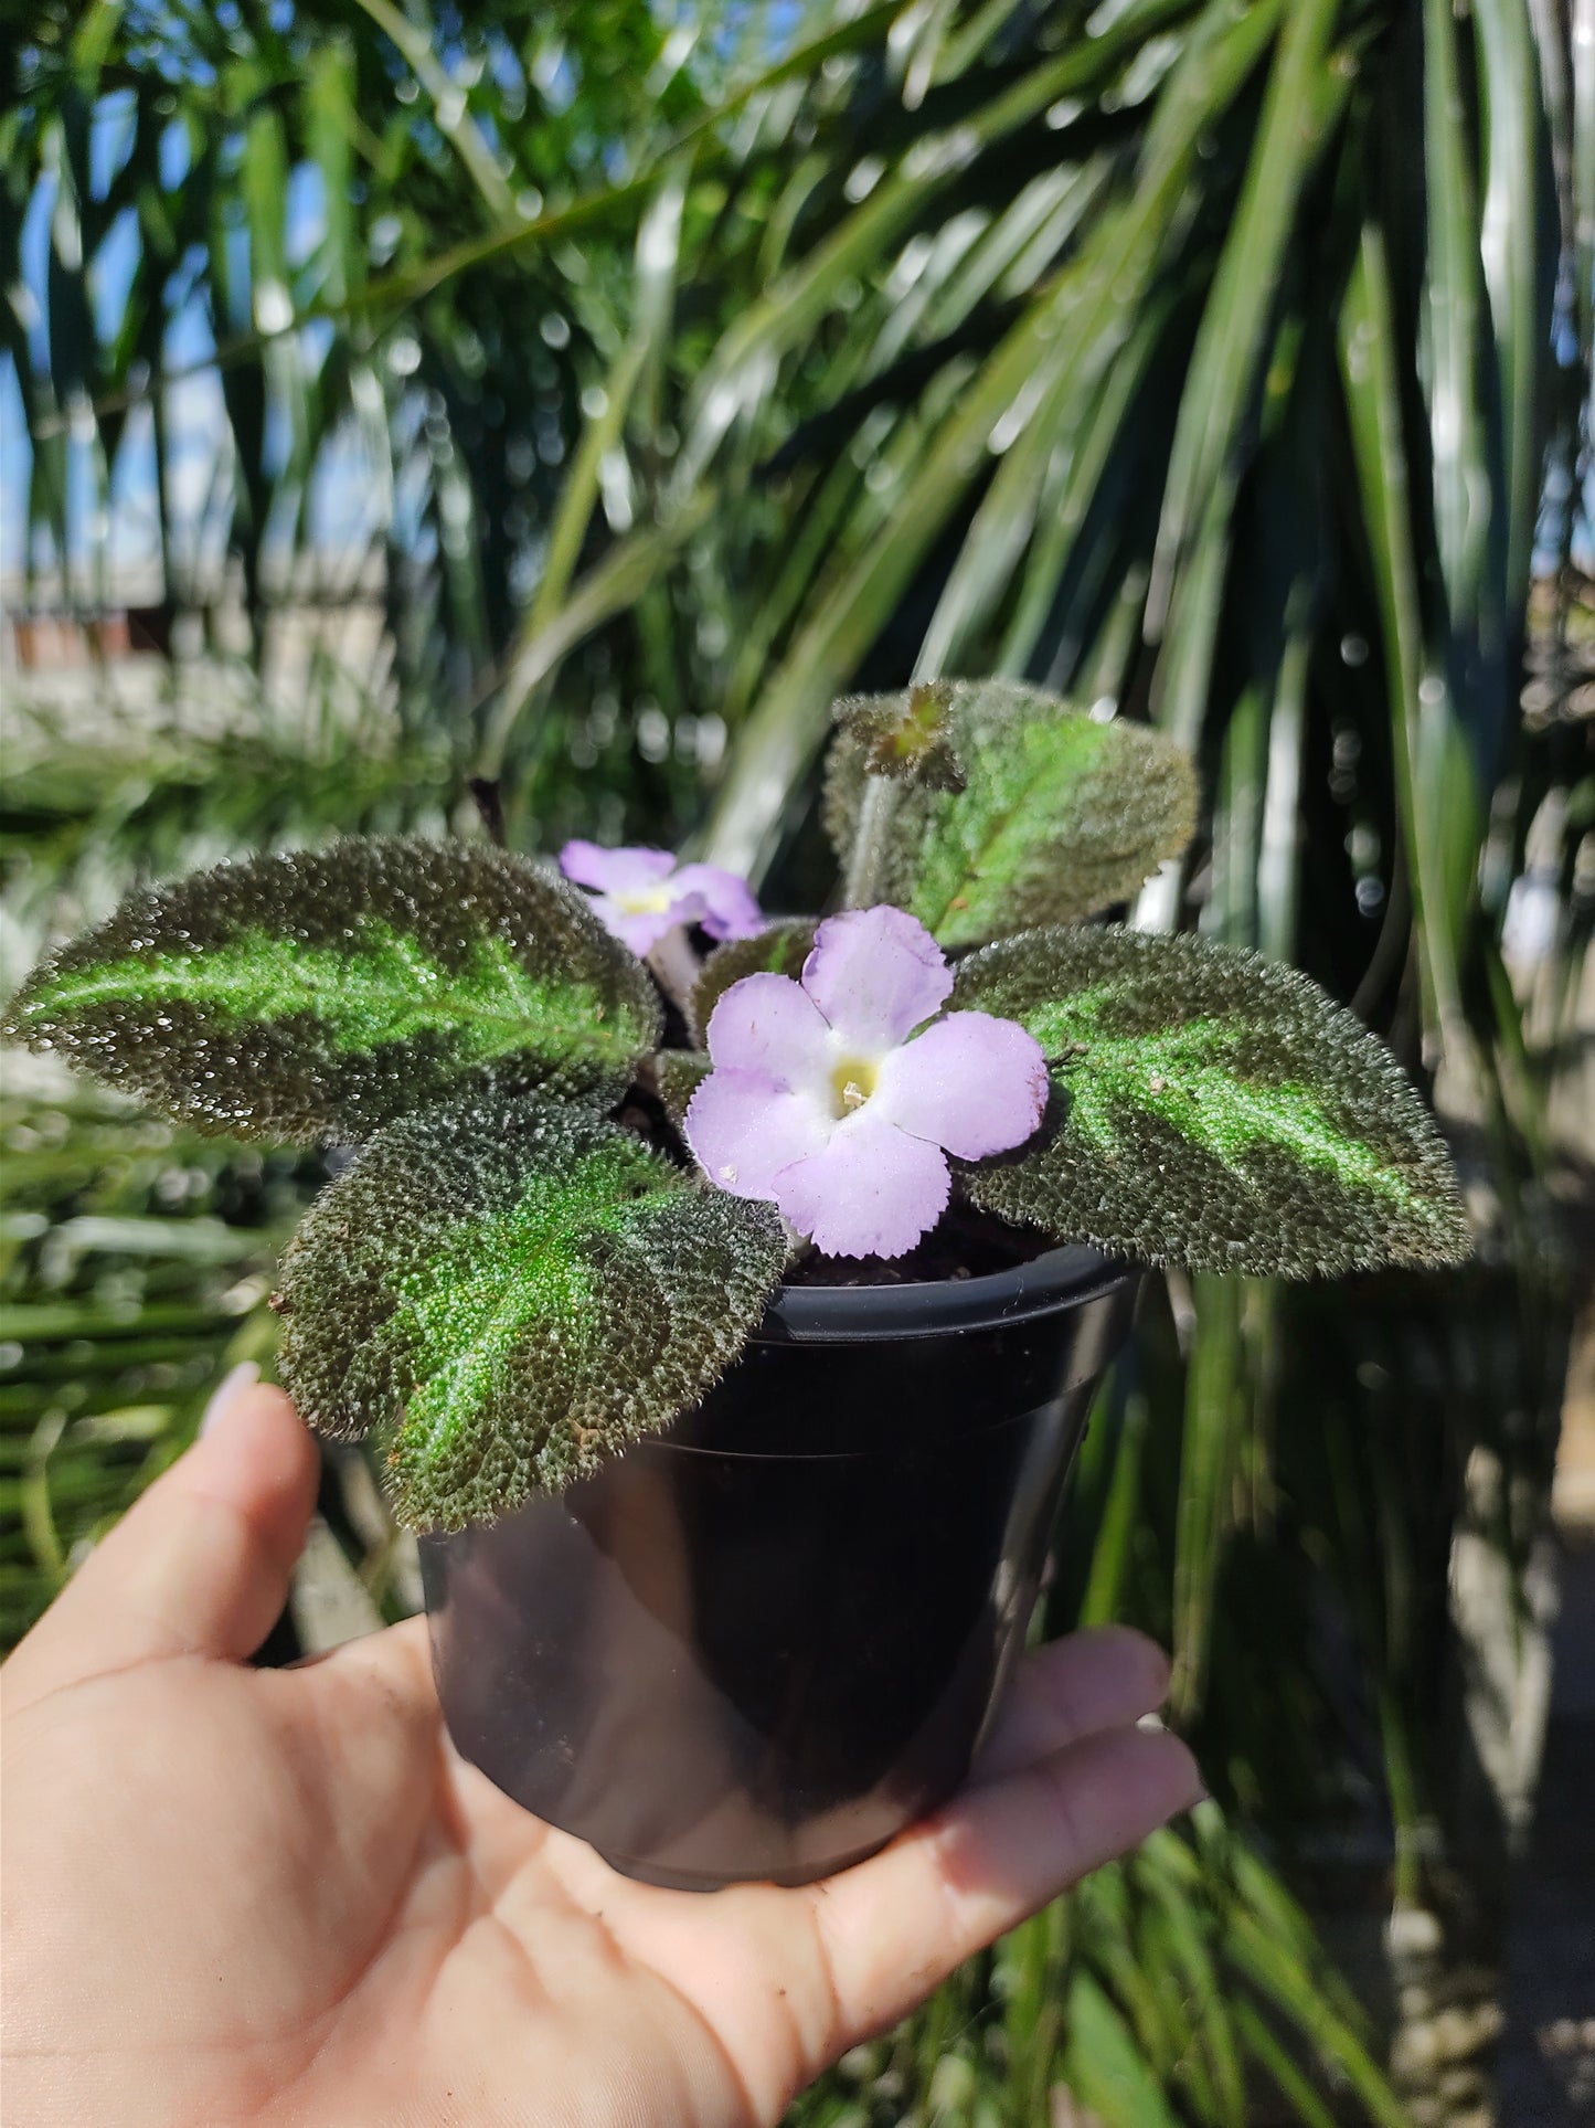
[(1168, 1656), (1129, 1626), (1095, 1626), (1021, 1662), (972, 1781), (995, 1781), (1080, 1736), (1125, 1728), (1168, 1698)]

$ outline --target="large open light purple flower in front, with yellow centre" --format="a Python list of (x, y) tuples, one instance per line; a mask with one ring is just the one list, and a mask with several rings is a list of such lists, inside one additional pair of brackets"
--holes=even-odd
[(940, 947), (902, 909), (815, 932), (802, 983), (749, 975), (708, 1021), (715, 1070), (687, 1143), (721, 1190), (772, 1198), (825, 1256), (902, 1256), (936, 1226), (946, 1156), (1023, 1145), (1046, 1107), (1040, 1043), (1012, 1019), (948, 1013)]

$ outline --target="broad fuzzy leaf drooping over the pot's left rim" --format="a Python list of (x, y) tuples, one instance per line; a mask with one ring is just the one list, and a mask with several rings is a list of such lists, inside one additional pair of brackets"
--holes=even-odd
[(774, 1207), (706, 1190), (551, 1100), (410, 1115), (283, 1260), (283, 1381), (317, 1430), (385, 1430), (398, 1513), (455, 1530), (691, 1407), (780, 1279)]

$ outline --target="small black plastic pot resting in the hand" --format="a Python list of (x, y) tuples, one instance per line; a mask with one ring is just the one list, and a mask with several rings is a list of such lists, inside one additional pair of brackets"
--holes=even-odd
[(963, 1779), (1136, 1275), (783, 1287), (704, 1402), (421, 1545), (459, 1751), (632, 1877), (806, 1883)]

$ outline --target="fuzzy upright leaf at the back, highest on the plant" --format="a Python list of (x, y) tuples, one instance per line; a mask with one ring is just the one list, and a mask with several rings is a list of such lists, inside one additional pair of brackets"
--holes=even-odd
[[(942, 681), (946, 747), (966, 787), (902, 785), (876, 890), (946, 947), (1068, 924), (1127, 900), (1191, 841), (1195, 775), (1161, 732), (1097, 724), (1017, 681)], [(870, 717), (910, 724), (910, 696), (838, 702), (825, 824), (846, 864)]]

